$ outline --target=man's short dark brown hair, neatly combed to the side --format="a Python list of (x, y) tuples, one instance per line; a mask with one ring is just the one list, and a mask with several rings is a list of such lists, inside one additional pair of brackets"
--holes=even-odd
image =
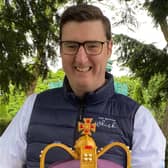
[(100, 8), (87, 4), (71, 6), (64, 11), (60, 21), (60, 40), (62, 38), (62, 28), (67, 22), (83, 22), (92, 20), (100, 20), (103, 23), (106, 38), (107, 40), (111, 40), (111, 24), (109, 19), (103, 15)]

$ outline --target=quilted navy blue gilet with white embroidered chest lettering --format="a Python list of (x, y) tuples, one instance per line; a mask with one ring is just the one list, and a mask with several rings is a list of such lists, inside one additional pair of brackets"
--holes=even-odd
[[(27, 168), (39, 168), (41, 150), (49, 143), (60, 142), (73, 147), (79, 137), (77, 122), (93, 118), (97, 129), (93, 134), (98, 148), (114, 141), (132, 146), (134, 116), (139, 105), (132, 99), (114, 91), (112, 75), (106, 73), (106, 84), (80, 100), (74, 95), (65, 77), (61, 88), (37, 95), (27, 132)], [(125, 167), (125, 152), (113, 148), (102, 159), (114, 161)], [(72, 159), (64, 150), (48, 152), (46, 167), (53, 162)]]

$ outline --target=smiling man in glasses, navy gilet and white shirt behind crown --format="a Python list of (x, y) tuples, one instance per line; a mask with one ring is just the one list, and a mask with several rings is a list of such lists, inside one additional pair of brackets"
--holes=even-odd
[[(69, 7), (60, 22), (60, 53), (65, 71), (62, 88), (33, 94), (17, 113), (0, 141), (0, 168), (39, 167), (40, 151), (49, 143), (73, 146), (77, 123), (93, 118), (98, 148), (113, 141), (132, 150), (133, 168), (163, 168), (165, 137), (151, 113), (114, 91), (105, 72), (112, 53), (110, 22), (91, 5)], [(46, 164), (70, 160), (62, 150), (48, 153)], [(116, 148), (101, 159), (126, 166)]]

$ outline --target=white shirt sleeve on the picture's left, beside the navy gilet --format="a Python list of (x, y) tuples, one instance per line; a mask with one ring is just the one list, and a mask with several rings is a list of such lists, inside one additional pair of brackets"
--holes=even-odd
[(0, 168), (22, 168), (26, 160), (26, 133), (36, 94), (29, 96), (0, 137)]

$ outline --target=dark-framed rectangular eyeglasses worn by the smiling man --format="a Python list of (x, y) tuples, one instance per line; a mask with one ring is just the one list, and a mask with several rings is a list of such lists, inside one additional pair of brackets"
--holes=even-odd
[(83, 43), (77, 41), (61, 41), (61, 51), (63, 54), (75, 55), (77, 54), (80, 46), (83, 46), (86, 54), (98, 55), (102, 52), (103, 44), (108, 41), (84, 41)]

